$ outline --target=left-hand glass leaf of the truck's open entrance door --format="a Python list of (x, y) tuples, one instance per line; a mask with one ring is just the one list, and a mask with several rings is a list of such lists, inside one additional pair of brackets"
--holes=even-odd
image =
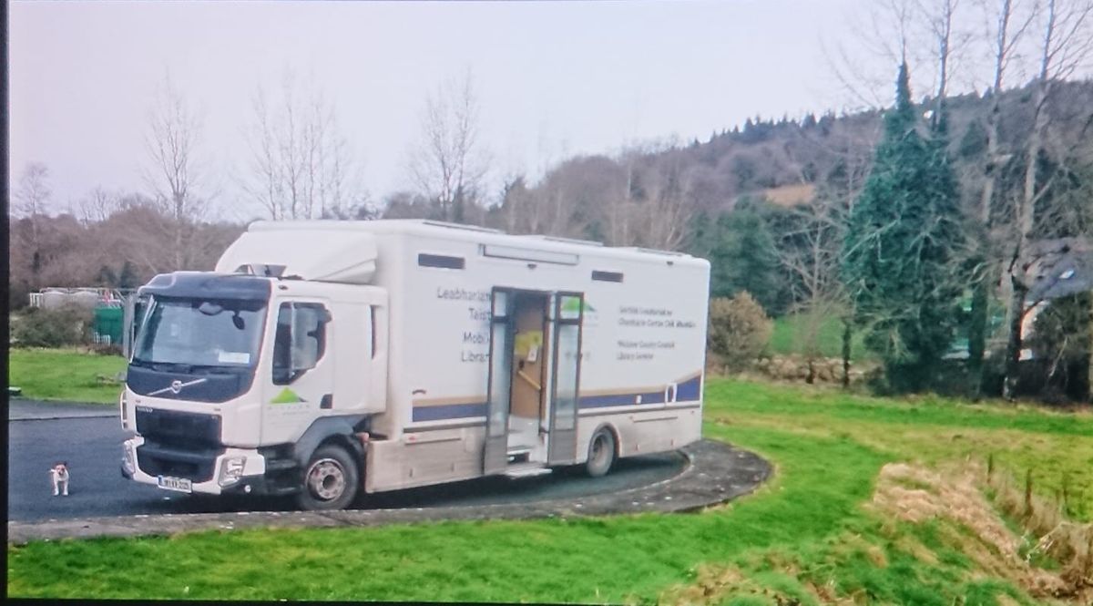
[(513, 382), (513, 291), (494, 288), (490, 311), (490, 377), (486, 386), (485, 446), (482, 473), (500, 474), (508, 465), (508, 410)]

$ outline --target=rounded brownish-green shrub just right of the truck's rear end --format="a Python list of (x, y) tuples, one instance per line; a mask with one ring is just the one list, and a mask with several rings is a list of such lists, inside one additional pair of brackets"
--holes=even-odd
[(709, 302), (709, 349), (725, 362), (726, 370), (740, 371), (766, 348), (774, 323), (751, 294)]

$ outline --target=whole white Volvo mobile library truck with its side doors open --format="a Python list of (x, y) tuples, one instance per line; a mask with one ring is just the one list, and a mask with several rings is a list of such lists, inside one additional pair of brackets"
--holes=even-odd
[[(679, 448), (701, 434), (708, 276), (687, 255), (430, 221), (255, 223), (214, 272), (142, 289), (122, 471), (321, 509)], [(211, 363), (174, 353), (201, 333), (185, 322), (218, 323), (186, 346)]]

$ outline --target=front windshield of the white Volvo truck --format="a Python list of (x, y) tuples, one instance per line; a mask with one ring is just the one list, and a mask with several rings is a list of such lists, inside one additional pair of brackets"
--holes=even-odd
[(153, 296), (150, 305), (134, 364), (240, 369), (258, 361), (265, 301)]

